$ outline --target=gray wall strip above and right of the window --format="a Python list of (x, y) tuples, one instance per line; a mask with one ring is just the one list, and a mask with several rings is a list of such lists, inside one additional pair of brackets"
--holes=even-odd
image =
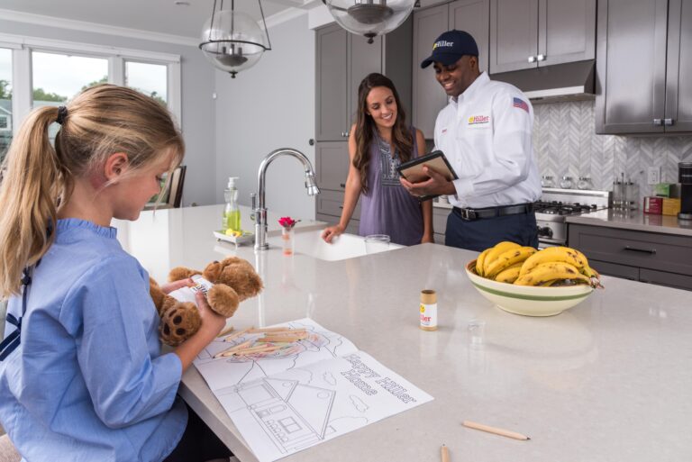
[[(57, 23), (59, 21), (57, 20)], [(214, 204), (214, 68), (194, 46), (0, 20), (0, 32), (180, 55), (182, 129), (187, 145), (183, 204)]]

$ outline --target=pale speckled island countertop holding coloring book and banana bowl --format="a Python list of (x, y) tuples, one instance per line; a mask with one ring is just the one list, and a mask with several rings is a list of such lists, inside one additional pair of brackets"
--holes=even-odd
[[(281, 460), (436, 462), (442, 443), (455, 461), (692, 460), (692, 293), (603, 276), (605, 290), (571, 310), (523, 317), (499, 310), (470, 284), (463, 267), (475, 252), (423, 244), (333, 262), (300, 249), (293, 258), (280, 249), (256, 255), (214, 240), (221, 211), (142, 213), (119, 226), (119, 237), (159, 279), (176, 265), (249, 259), (266, 289), (241, 303), (229, 323), (309, 317), (435, 398)], [(438, 331), (418, 328), (423, 288), (437, 291)], [(474, 318), (486, 322), (480, 347), (469, 341)], [(180, 393), (236, 457), (256, 460), (194, 367)], [(463, 420), (531, 440), (469, 430)]]

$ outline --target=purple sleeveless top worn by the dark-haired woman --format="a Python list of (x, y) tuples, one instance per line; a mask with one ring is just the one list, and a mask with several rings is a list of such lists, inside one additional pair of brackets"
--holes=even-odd
[[(414, 136), (412, 158), (418, 157)], [(399, 183), (401, 164), (396, 151), (392, 158), (389, 144), (382, 140), (377, 130), (370, 143), (368, 164), (368, 194), (360, 195), (361, 236), (387, 234), (392, 242), (405, 246), (420, 244), (423, 239), (423, 212), (418, 199), (410, 195)]]

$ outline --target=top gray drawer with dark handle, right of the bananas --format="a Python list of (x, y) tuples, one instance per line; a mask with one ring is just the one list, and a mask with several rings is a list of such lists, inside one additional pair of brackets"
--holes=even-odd
[(589, 259), (692, 276), (692, 237), (569, 224), (569, 247)]

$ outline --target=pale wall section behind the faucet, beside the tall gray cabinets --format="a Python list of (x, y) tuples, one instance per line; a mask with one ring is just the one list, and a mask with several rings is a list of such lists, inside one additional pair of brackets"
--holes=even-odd
[[(307, 14), (269, 28), (272, 50), (237, 77), (215, 72), (216, 199), (223, 202), (228, 177), (240, 177), (240, 202), (250, 205), (259, 163), (270, 151), (294, 148), (314, 165), (314, 31)], [(267, 207), (314, 218), (314, 197), (305, 192), (296, 159), (277, 159), (267, 173)], [(250, 229), (250, 223), (242, 223)]]

